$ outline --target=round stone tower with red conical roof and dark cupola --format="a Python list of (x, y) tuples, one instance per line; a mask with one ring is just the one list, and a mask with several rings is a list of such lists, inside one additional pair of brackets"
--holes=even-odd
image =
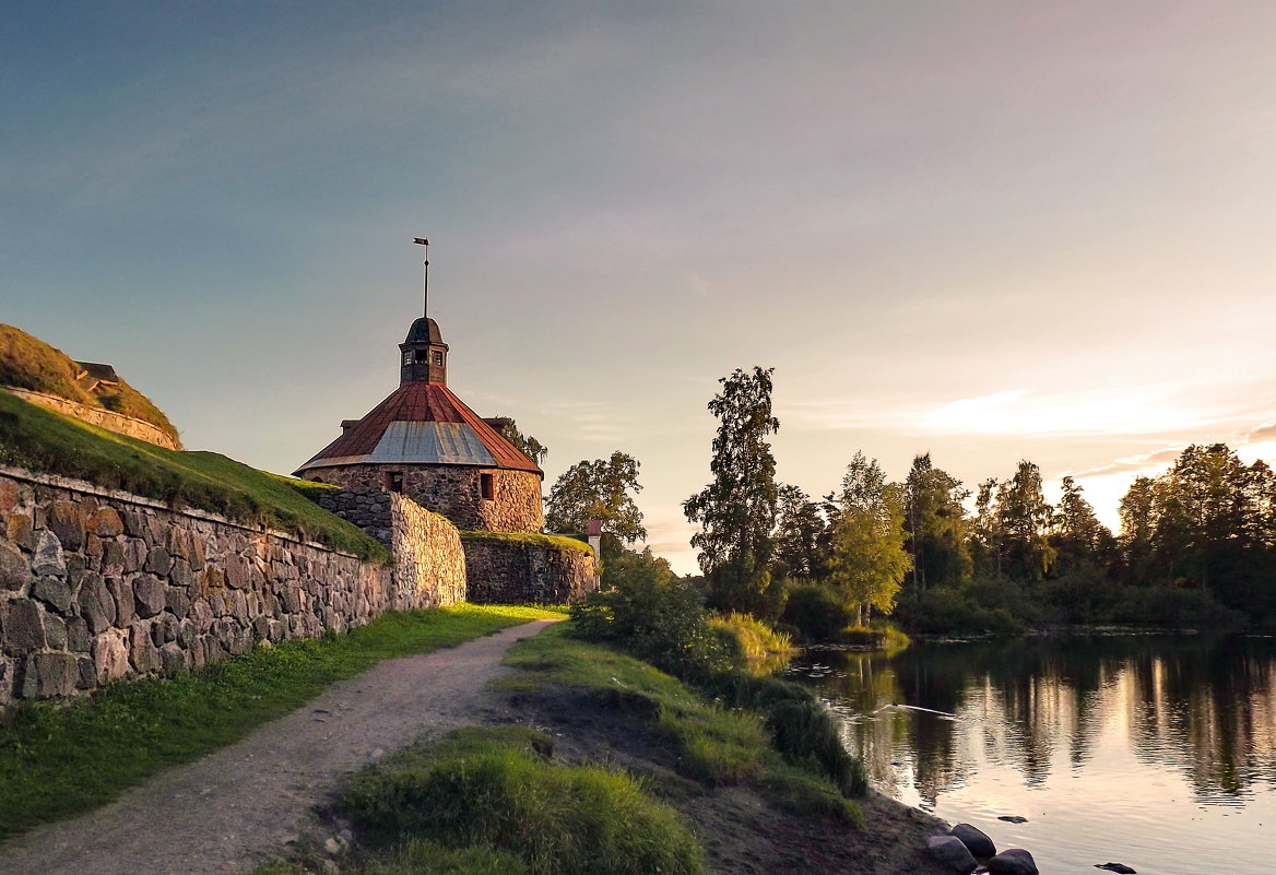
[(421, 318), (399, 344), (399, 388), (296, 476), (402, 492), (461, 529), (540, 532), (545, 473), (448, 389), (448, 344)]

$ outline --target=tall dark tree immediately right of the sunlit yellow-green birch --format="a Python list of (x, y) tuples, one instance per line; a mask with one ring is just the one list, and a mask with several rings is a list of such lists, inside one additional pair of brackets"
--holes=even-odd
[(966, 509), (970, 496), (930, 453), (912, 459), (903, 482), (903, 524), (912, 557), (910, 584), (920, 597), (929, 587), (956, 587), (970, 578), (971, 559), (966, 547)]

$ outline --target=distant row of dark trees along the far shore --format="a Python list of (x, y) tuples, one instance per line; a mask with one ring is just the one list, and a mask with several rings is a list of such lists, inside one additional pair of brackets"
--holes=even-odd
[(882, 580), (897, 591), (859, 599), (909, 630), (1276, 624), (1276, 473), (1262, 460), (1245, 464), (1226, 444), (1188, 446), (1164, 474), (1137, 478), (1120, 503), (1119, 534), (1071, 477), (1059, 503), (1046, 501), (1041, 472), (1027, 460), (974, 491), (929, 454), (902, 482), (883, 481), (875, 460), (856, 457), (841, 494), (815, 501), (778, 487), (775, 574), (790, 591), (838, 579), (846, 514), (869, 509), (859, 523), (866, 540), (879, 550), (897, 541), (909, 568)]

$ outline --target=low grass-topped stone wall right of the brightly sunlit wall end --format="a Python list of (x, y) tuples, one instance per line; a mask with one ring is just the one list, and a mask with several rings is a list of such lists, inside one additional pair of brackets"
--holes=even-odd
[(593, 554), (544, 542), (462, 536), (470, 601), (578, 602), (598, 588)]

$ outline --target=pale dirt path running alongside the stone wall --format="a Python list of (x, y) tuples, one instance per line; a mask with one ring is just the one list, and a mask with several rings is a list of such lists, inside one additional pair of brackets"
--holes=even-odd
[(318, 828), (345, 774), (508, 709), (486, 686), (505, 651), (551, 620), (388, 659), (231, 747), (158, 774), (87, 815), (0, 846), (5, 875), (230, 875)]

